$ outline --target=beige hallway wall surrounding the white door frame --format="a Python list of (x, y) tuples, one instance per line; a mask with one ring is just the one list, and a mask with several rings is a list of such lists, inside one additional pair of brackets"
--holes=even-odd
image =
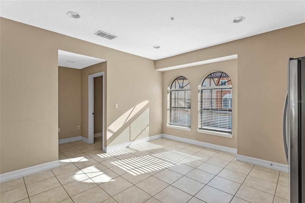
[[(105, 104), (104, 109), (107, 107), (107, 62), (97, 63), (92, 66), (81, 69), (81, 135), (88, 138), (88, 75), (104, 72), (103, 79), (105, 80)], [(105, 110), (106, 115), (107, 110)], [(104, 120), (104, 125), (106, 126), (106, 119)], [(106, 128), (106, 127), (105, 127)], [(106, 129), (105, 129), (106, 131)], [(106, 136), (104, 137), (104, 139)], [(103, 143), (106, 143), (106, 140), (103, 140)], [(104, 146), (106, 146), (104, 144)]]

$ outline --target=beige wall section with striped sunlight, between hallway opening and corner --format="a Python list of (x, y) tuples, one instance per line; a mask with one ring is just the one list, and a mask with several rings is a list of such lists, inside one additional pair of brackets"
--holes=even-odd
[[(107, 97), (107, 146), (118, 144), (118, 137), (124, 137), (124, 141), (133, 141), (161, 134), (162, 73), (155, 70), (154, 61), (140, 58), (132, 62), (123, 57), (117, 60), (120, 72), (109, 68), (109, 63), (112, 62), (107, 61), (107, 86), (111, 85), (112, 88), (107, 88), (107, 94), (111, 95), (111, 98)], [(115, 80), (109, 79), (110, 74)], [(118, 103), (117, 109), (115, 103)], [(144, 121), (139, 122), (141, 115)], [(130, 132), (127, 135), (123, 132), (128, 128)]]

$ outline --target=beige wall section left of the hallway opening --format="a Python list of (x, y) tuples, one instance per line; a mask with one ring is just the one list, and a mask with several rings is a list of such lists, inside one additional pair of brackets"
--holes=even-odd
[(0, 26), (0, 173), (6, 173), (58, 160), (58, 62), (55, 43), (35, 34), (38, 28), (3, 18)]

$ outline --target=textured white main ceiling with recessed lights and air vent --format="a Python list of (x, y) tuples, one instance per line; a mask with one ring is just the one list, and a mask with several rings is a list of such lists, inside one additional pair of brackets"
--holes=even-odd
[[(161, 59), (304, 23), (305, 1), (1, 1), (0, 16)], [(238, 16), (246, 20), (232, 23)], [(117, 38), (94, 35), (98, 30)]]

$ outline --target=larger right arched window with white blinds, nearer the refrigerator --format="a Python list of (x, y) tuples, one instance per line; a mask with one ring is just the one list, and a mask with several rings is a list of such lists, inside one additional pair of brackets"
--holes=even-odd
[(214, 72), (202, 82), (199, 103), (199, 130), (232, 134), (232, 81), (223, 72)]

